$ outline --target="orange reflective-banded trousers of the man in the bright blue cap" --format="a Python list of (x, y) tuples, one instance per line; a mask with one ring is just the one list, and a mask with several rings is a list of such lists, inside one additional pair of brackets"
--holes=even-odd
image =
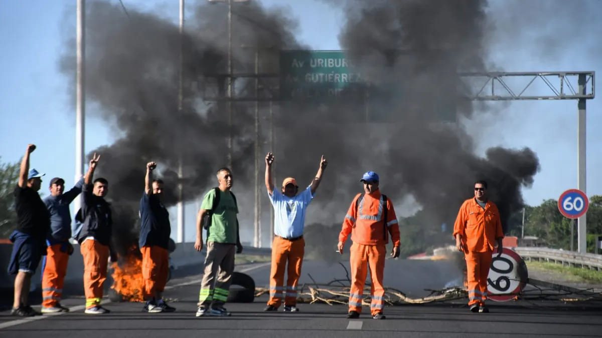
[(351, 290), (349, 292), (349, 311), (362, 313), (362, 299), (364, 296), (364, 283), (370, 266), (371, 302), (370, 313), (383, 312), (385, 309), (385, 288), (382, 286), (385, 272), (385, 245), (351, 245)]

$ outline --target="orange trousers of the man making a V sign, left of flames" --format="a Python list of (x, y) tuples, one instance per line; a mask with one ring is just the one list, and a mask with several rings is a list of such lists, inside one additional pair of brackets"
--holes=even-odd
[(94, 239), (86, 239), (80, 245), (84, 257), (84, 293), (85, 308), (101, 304), (102, 287), (107, 279), (109, 247)]

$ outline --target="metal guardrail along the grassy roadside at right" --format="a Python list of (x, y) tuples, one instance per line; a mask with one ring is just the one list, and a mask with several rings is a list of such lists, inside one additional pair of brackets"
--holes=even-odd
[(589, 268), (591, 270), (602, 270), (602, 255), (592, 253), (578, 253), (539, 247), (517, 247), (514, 248), (525, 260), (545, 260), (562, 265)]

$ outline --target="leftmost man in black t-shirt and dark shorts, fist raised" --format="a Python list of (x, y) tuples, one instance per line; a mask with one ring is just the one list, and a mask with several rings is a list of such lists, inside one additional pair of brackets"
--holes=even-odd
[(46, 254), (46, 234), (50, 229), (50, 215), (38, 191), (44, 174), (29, 170), (29, 154), (36, 149), (28, 144), (21, 160), (19, 183), (14, 189), (17, 227), (10, 235), (13, 252), (8, 263), (8, 274), (14, 278), (14, 301), (11, 315), (31, 317), (40, 315), (29, 306), (31, 275), (36, 272), (42, 255)]

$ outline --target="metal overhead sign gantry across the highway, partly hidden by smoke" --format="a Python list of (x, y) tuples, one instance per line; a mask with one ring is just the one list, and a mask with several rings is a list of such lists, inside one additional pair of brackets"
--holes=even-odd
[[(595, 72), (466, 72), (458, 75), (472, 86), (467, 98), (473, 101), (577, 100), (577, 188), (586, 192), (586, 100), (595, 97)], [(206, 78), (216, 78), (218, 81), (229, 79), (231, 83), (236, 79), (252, 78), (255, 79), (255, 86), (258, 86), (260, 79), (275, 79), (279, 76), (278, 73), (258, 73), (257, 70), (255, 73), (205, 75)], [(220, 93), (208, 94), (206, 88), (202, 88), (202, 91), (205, 91), (202, 95), (203, 100), (214, 102), (270, 102), (271, 105), (272, 102), (280, 101), (278, 89), (269, 88), (267, 85), (263, 88), (262, 95), (255, 89), (253, 96), (236, 96), (236, 91), (229, 96)], [(545, 88), (546, 92), (532, 93), (534, 90), (541, 91), (541, 88)], [(257, 170), (255, 173), (257, 174)], [(257, 194), (255, 198), (258, 198)], [(255, 205), (254, 244), (260, 244), (262, 230), (257, 209), (258, 201)], [(585, 253), (586, 216), (580, 217), (577, 224), (577, 248), (580, 253)]]

